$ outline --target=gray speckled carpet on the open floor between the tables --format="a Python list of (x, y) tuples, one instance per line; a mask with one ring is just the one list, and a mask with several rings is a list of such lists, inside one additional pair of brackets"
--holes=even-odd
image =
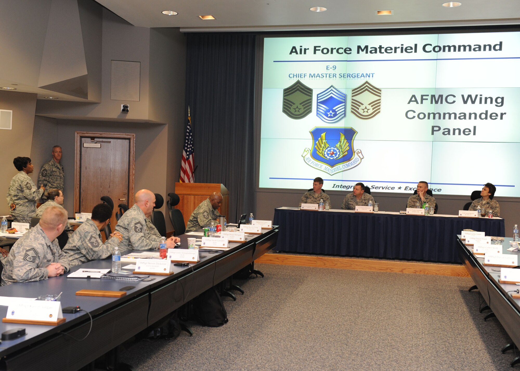
[(505, 370), (509, 337), (483, 321), (469, 278), (255, 264), (237, 281), (229, 323), (193, 324), (174, 340), (142, 340), (122, 361), (137, 370)]

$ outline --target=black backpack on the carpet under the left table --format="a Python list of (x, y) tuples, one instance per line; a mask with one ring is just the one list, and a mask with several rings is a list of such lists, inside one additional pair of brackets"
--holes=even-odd
[(215, 287), (193, 299), (193, 314), (203, 326), (218, 327), (228, 322), (226, 308)]

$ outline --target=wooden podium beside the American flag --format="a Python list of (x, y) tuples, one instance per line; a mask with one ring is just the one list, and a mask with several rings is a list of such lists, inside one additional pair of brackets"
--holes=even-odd
[(224, 187), (224, 184), (175, 183), (175, 193), (177, 193), (180, 198), (179, 204), (175, 206), (175, 208), (183, 213), (186, 227), (188, 227), (188, 220), (193, 210), (213, 192), (220, 192), (220, 194), (222, 194), (223, 200), (218, 210), (220, 215), (225, 215), (227, 218), (229, 216), (229, 191)]

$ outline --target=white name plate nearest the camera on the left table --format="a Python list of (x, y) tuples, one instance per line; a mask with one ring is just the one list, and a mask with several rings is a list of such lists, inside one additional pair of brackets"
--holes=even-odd
[(15, 322), (14, 320), (57, 322), (63, 319), (61, 302), (47, 300), (18, 301), (7, 308), (5, 319), (7, 321), (4, 322)]

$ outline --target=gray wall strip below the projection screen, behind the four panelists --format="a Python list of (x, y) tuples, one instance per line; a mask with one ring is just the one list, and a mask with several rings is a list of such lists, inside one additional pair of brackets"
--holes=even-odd
[[(491, 179), (492, 180), (492, 179)], [(309, 188), (312, 183), (309, 183)], [(306, 190), (262, 190), (256, 192), (256, 215), (257, 219), (272, 220), (275, 214), (275, 208), (281, 206), (297, 207), (300, 198)], [(347, 193), (329, 191), (331, 207), (341, 208), (343, 198)], [(399, 211), (406, 208), (409, 195), (388, 194), (388, 193), (371, 193), (375, 201), (379, 203), (381, 211)], [(470, 196), (452, 196), (452, 195), (434, 195), (439, 205), (439, 214), (457, 215), (462, 210), (464, 204), (471, 201)], [(520, 199), (514, 197), (495, 197), (500, 204), (500, 217), (505, 219), (505, 235), (510, 236), (513, 233), (514, 224), (520, 224), (520, 215), (518, 207)], [(245, 212), (245, 211), (244, 211)]]

